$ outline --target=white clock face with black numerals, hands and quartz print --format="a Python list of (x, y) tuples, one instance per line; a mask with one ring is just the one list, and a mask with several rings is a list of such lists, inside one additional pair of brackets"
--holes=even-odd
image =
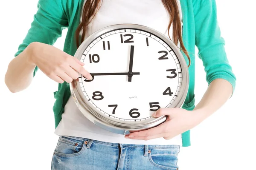
[(79, 77), (90, 107), (111, 119), (143, 121), (179, 99), (182, 70), (176, 54), (155, 35), (117, 29), (95, 39), (81, 56), (93, 80)]

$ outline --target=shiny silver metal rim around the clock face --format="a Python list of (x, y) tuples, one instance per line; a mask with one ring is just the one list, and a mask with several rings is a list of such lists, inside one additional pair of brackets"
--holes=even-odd
[[(97, 38), (101, 37), (104, 34), (107, 34), (111, 31), (120, 30), (120, 29), (136, 29), (136, 30), (148, 32), (149, 34), (152, 34), (160, 38), (160, 40), (165, 42), (169, 46), (169, 48), (172, 49), (172, 51), (175, 53), (175, 55), (177, 56), (177, 59), (180, 62), (180, 68), (182, 71), (182, 85), (180, 87), (180, 92), (179, 92), (179, 96), (181, 97), (180, 97), (180, 100), (175, 100), (174, 102), (174, 106), (180, 108), (186, 99), (188, 86), (189, 86), (189, 73), (188, 73), (186, 61), (183, 55), (181, 54), (180, 50), (177, 48), (177, 46), (168, 37), (166, 37), (164, 34), (160, 33), (159, 31), (154, 30), (153, 28), (149, 28), (147, 26), (142, 26), (138, 24), (116, 24), (116, 25), (107, 26), (105, 28), (102, 28), (94, 32), (89, 37), (87, 37), (86, 40), (84, 40), (79, 46), (79, 48), (77, 49), (74, 57), (76, 57), (80, 61), (82, 55), (84, 54), (84, 51), (93, 41), (95, 41)], [(112, 131), (114, 133), (126, 134), (128, 133), (128, 131), (145, 130), (145, 129), (157, 126), (166, 120), (166, 116), (160, 116), (158, 118), (151, 118), (151, 119), (146, 119), (143, 121), (136, 121), (136, 122), (121, 121), (118, 119), (113, 119), (113, 118), (110, 118), (109, 116), (106, 116), (102, 112), (98, 111), (96, 108), (94, 108), (90, 104), (90, 102), (86, 99), (83, 92), (81, 91), (79, 79), (73, 80), (70, 83), (70, 91), (79, 110), (84, 116), (87, 117), (87, 119), (89, 119), (94, 124), (104, 129), (107, 129), (109, 131)]]

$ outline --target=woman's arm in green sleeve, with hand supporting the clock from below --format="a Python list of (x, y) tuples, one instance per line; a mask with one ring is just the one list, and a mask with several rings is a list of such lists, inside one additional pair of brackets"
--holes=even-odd
[(166, 115), (168, 116), (166, 122), (149, 130), (131, 133), (126, 135), (126, 138), (172, 139), (200, 124), (233, 95), (236, 77), (225, 52), (225, 41), (218, 26), (215, 0), (192, 0), (192, 2), (195, 17), (195, 45), (198, 47), (198, 57), (202, 60), (206, 72), (207, 91), (193, 111), (182, 108), (159, 109), (154, 116)]

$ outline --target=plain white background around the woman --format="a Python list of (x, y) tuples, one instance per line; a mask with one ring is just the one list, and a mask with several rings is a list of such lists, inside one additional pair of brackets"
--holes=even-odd
[[(237, 78), (236, 91), (191, 130), (192, 146), (181, 148), (178, 165), (180, 170), (256, 170), (256, 4), (253, 0), (216, 2), (221, 35)], [(58, 140), (52, 113), (57, 83), (41, 71), (28, 89), (17, 94), (4, 83), (8, 64), (37, 11), (37, 0), (5, 0), (0, 7), (0, 169), (50, 170)], [(55, 47), (63, 49), (66, 33)], [(197, 104), (207, 82), (201, 60), (196, 63)]]

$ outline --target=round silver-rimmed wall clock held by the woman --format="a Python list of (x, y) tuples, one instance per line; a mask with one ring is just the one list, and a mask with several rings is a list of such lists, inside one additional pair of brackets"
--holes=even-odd
[(75, 56), (93, 79), (79, 78), (70, 90), (81, 113), (113, 133), (129, 134), (155, 127), (166, 116), (160, 108), (181, 107), (189, 74), (177, 46), (145, 26), (118, 24), (96, 31)]

